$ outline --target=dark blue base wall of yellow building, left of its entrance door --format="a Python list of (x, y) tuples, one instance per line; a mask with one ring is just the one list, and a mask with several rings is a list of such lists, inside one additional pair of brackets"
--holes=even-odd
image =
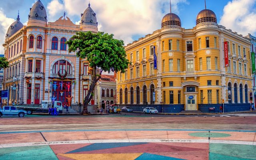
[(154, 107), (162, 113), (179, 113), (184, 110), (184, 104), (119, 104), (120, 108), (130, 107), (133, 111), (143, 112), (143, 108)]

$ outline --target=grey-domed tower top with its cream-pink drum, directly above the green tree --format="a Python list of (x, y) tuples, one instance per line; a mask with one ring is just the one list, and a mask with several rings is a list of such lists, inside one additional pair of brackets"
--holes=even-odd
[(98, 32), (96, 13), (90, 7), (90, 3), (84, 13), (81, 14), (80, 29), (82, 31)]

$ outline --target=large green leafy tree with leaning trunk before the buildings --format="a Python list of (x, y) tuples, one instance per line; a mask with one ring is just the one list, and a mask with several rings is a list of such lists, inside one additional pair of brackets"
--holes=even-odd
[[(96, 83), (101, 78), (102, 72), (125, 72), (130, 62), (126, 59), (124, 50), (124, 41), (113, 38), (113, 34), (98, 32), (77, 32), (68, 44), (69, 52), (76, 52), (76, 55), (82, 59), (89, 61), (92, 67), (92, 83), (88, 90), (88, 94), (84, 99), (84, 108), (82, 114), (87, 114), (87, 106), (94, 93)], [(96, 73), (97, 72), (97, 73)]]

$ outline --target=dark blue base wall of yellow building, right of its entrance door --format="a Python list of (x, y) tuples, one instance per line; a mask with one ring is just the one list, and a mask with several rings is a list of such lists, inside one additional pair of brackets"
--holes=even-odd
[[(210, 113), (219, 113), (220, 106), (223, 104), (198, 104), (198, 110), (203, 113), (209, 113), (209, 108), (215, 107), (214, 110), (210, 110)], [(243, 104), (224, 104), (224, 112), (238, 112), (238, 111), (249, 111), (250, 103)]]

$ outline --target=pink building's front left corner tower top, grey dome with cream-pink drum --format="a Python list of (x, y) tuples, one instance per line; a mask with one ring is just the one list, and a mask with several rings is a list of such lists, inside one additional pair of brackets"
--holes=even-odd
[(40, 0), (38, 0), (32, 8), (30, 8), (30, 13), (28, 15), (28, 26), (43, 26), (47, 25), (47, 14), (44, 5)]

